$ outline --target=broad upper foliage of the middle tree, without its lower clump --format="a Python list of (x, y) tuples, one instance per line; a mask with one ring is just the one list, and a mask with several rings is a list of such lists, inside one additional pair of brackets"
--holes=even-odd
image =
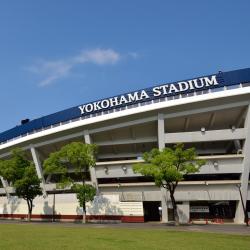
[(73, 181), (67, 176), (68, 168), (81, 175), (84, 182), (85, 173), (95, 165), (95, 154), (97, 147), (94, 144), (72, 142), (63, 146), (59, 151), (51, 153), (44, 161), (45, 174), (60, 174), (60, 187), (70, 185)]

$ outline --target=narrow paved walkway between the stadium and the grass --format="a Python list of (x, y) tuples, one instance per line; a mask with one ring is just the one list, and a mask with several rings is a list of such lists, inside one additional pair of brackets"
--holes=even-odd
[(71, 223), (71, 222), (24, 222), (16, 220), (0, 220), (0, 224), (18, 224), (18, 225), (39, 225), (52, 227), (90, 227), (90, 228), (131, 228), (131, 229), (160, 229), (172, 231), (189, 231), (189, 232), (210, 232), (210, 233), (226, 233), (250, 236), (250, 226), (233, 225), (233, 224), (209, 224), (209, 225), (181, 225), (173, 226), (164, 223)]

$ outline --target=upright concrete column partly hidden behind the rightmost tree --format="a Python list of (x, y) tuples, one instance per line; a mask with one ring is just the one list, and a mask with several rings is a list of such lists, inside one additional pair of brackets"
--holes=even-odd
[[(165, 148), (165, 124), (164, 115), (158, 114), (158, 148)], [(168, 200), (167, 190), (161, 188), (161, 207), (162, 207), (162, 222), (168, 222)]]

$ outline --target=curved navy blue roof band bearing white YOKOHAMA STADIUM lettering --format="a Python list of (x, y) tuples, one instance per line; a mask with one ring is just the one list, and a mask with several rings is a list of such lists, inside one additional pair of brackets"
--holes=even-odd
[[(0, 133), (0, 143), (5, 143), (25, 134), (37, 132), (43, 128), (65, 123), (71, 120), (79, 120), (81, 118), (91, 118), (114, 110), (121, 110), (131, 107), (131, 105), (140, 105), (145, 102), (154, 102), (165, 98), (173, 98), (176, 95), (188, 95), (192, 93), (200, 93), (202, 91), (217, 91), (221, 88), (230, 88), (237, 84), (250, 82), (250, 68), (219, 72), (214, 75), (196, 77), (194, 79), (182, 80), (179, 82), (165, 83), (151, 88), (141, 89), (130, 93), (86, 103), (75, 106), (51, 115), (34, 119), (26, 124), (16, 126), (10, 130)], [(216, 90), (217, 89), (217, 90)]]

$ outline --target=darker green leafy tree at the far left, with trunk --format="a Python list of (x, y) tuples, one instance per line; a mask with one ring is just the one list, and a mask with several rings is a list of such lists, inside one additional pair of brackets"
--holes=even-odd
[(28, 221), (30, 221), (33, 200), (36, 196), (42, 195), (34, 163), (27, 159), (24, 151), (15, 149), (10, 159), (0, 161), (0, 175), (13, 185), (16, 195), (27, 202)]

